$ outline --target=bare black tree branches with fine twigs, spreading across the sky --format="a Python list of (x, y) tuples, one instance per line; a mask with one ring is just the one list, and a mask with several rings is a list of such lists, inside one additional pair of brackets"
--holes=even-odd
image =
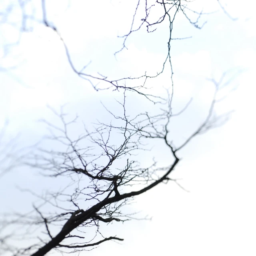
[[(200, 22), (204, 13), (191, 10), (189, 3), (188, 0), (138, 0), (131, 16), (130, 30), (120, 36), (123, 40), (122, 47), (115, 52), (115, 56), (127, 48), (127, 41), (132, 34), (139, 30), (154, 33), (162, 24), (168, 24), (166, 57), (162, 67), (156, 70), (155, 74), (145, 72), (134, 77), (108, 78), (103, 74), (87, 72), (88, 65), (80, 70), (76, 68), (57, 26), (54, 25), (54, 21), (48, 20), (47, 1), (41, 1), (43, 18), (40, 22), (59, 36), (70, 68), (96, 91), (118, 91), (122, 94), (122, 101), (117, 103), (118, 114), (116, 110), (104, 106), (111, 121), (99, 120), (94, 124), (93, 129), (86, 128), (85, 124), (84, 133), (80, 135), (70, 134), (70, 126), (79, 121), (77, 116), (69, 120), (64, 107), (60, 112), (51, 108), (61, 126), (48, 120), (42, 121), (50, 130), (50, 136), (46, 140), (58, 146), (55, 148), (39, 146), (20, 162), (39, 170), (44, 176), (66, 178), (67, 186), (61, 191), (53, 191), (45, 195), (38, 195), (31, 191), (40, 199), (40, 203), (34, 205), (33, 212), (18, 215), (8, 224), (38, 226), (43, 235), (38, 242), (26, 248), (9, 246), (3, 238), (1, 241), (4, 251), (17, 256), (43, 256), (53, 249), (60, 252), (79, 252), (91, 250), (108, 240), (122, 241), (123, 239), (115, 234), (105, 237), (100, 231), (101, 224), (125, 222), (134, 218), (133, 214), (126, 213), (124, 206), (130, 204), (136, 196), (161, 183), (173, 181), (178, 184), (170, 174), (180, 161), (180, 150), (195, 136), (226, 121), (228, 115), (215, 116), (214, 114), (214, 107), (221, 100), (221, 91), (227, 85), (224, 82), (226, 74), (223, 74), (219, 81), (213, 79), (210, 81), (214, 87), (212, 101), (207, 115), (198, 124), (196, 130), (180, 144), (173, 142), (173, 134), (170, 133), (171, 120), (175, 116), (182, 115), (191, 103), (190, 100), (179, 112), (173, 111), (175, 95), (171, 46), (172, 40), (184, 39), (172, 37), (174, 19), (178, 15), (183, 15), (192, 26), (198, 29), (205, 24)], [(25, 5), (25, 2), (21, 4), (24, 10), (23, 18), (32, 19), (32, 16), (26, 15)], [(167, 68), (170, 70), (170, 88), (166, 90), (166, 97), (152, 94), (148, 81), (163, 74)], [(157, 114), (130, 113), (127, 97), (132, 97), (134, 94), (151, 102)], [(147, 144), (152, 140), (160, 141), (162, 145), (160, 150), (168, 150), (170, 158), (167, 166), (154, 159), (148, 159), (147, 166), (141, 163), (140, 153), (150, 150)], [(88, 228), (93, 228), (96, 232), (90, 241), (86, 240), (85, 235), (85, 230)]]

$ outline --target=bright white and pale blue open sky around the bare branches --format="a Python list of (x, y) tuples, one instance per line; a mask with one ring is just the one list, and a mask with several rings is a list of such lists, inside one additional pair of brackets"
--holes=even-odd
[[(124, 28), (128, 28), (126, 21), (131, 19), (134, 1), (76, 1), (70, 7), (67, 2), (54, 2), (58, 12), (48, 6), (48, 15), (49, 19), (54, 16), (54, 24), (78, 69), (92, 60), (89, 67), (92, 72), (99, 70), (110, 76), (126, 76), (145, 70), (155, 72), (161, 64), (166, 39), (163, 29), (150, 36), (141, 33), (132, 37), (127, 42), (128, 51), (119, 54), (118, 61), (113, 56), (120, 48), (116, 36), (126, 32)], [(177, 108), (191, 95), (195, 97), (190, 111), (174, 126), (177, 140), (185, 137), (204, 114), (211, 90), (205, 78), (212, 75), (218, 78), (223, 71), (232, 68), (244, 70), (232, 82), (238, 89), (218, 108), (218, 112), (235, 110), (230, 121), (192, 140), (179, 154), (182, 161), (173, 177), (183, 178), (180, 183), (190, 192), (170, 183), (139, 196), (134, 210), (142, 210), (142, 216), (153, 216), (152, 221), (109, 225), (104, 229), (106, 236), (124, 238), (122, 245), (106, 242), (80, 255), (255, 255), (256, 4), (252, 0), (246, 1), (246, 6), (237, 0), (225, 0), (225, 3), (229, 13), (239, 18), (237, 21), (218, 12), (205, 17), (208, 23), (202, 30), (193, 29), (182, 19), (174, 24), (175, 36), (193, 36), (172, 43)], [(218, 8), (215, 1), (207, 2), (206, 6), (205, 1), (200, 0), (194, 4), (195, 7), (204, 4), (209, 10)], [(13, 37), (12, 30), (2, 29), (7, 31), (9, 38)], [(161, 42), (164, 42), (162, 47), (159, 46)], [(33, 144), (46, 133), (37, 120), (54, 121), (47, 104), (59, 108), (69, 102), (67, 111), (77, 112), (89, 124), (95, 116), (107, 118), (99, 105), (100, 100), (113, 107), (113, 98), (118, 97), (117, 92), (95, 92), (86, 81), (78, 78), (68, 64), (62, 43), (44, 26), (37, 25), (34, 32), (23, 34), (20, 46), (11, 57), (1, 61), (1, 66), (9, 66), (16, 60), (20, 63), (17, 68), (0, 72), (0, 121), (10, 119), (8, 136), (20, 132), (21, 145)], [(167, 76), (163, 76), (157, 86), (167, 86), (166, 80)], [(152, 86), (152, 91), (160, 90), (160, 86)], [(133, 97), (131, 113), (140, 105), (136, 102), (141, 100), (136, 95)], [(166, 152), (156, 148), (153, 153), (162, 162), (168, 162)], [(45, 184), (40, 176), (31, 175), (31, 172), (19, 169), (1, 178), (0, 193), (8, 195), (1, 198), (4, 211), (25, 211), (31, 206), (32, 198), (18, 192), (16, 185), (37, 191), (56, 186), (56, 181)]]

